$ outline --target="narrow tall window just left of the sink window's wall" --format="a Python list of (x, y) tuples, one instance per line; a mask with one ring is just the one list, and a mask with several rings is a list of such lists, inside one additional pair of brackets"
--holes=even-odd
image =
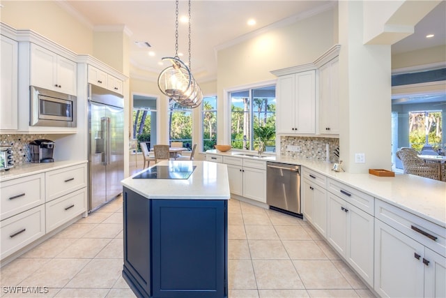
[(217, 96), (203, 98), (203, 151), (217, 144)]

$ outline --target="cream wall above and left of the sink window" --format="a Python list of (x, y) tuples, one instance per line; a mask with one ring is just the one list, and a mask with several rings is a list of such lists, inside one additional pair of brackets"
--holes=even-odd
[(328, 10), (217, 52), (217, 143), (230, 141), (230, 105), (226, 102), (225, 90), (275, 80), (271, 70), (316, 60), (337, 43), (334, 20), (337, 20), (337, 10)]

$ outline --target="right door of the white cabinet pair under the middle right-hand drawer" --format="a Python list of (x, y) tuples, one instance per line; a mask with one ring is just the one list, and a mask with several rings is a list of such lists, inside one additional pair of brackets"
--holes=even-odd
[(348, 204), (346, 260), (369, 285), (374, 285), (374, 217)]

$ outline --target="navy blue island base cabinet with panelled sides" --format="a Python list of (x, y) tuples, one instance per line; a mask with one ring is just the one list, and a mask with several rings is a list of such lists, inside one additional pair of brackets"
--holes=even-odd
[(124, 188), (123, 278), (137, 297), (227, 297), (227, 201)]

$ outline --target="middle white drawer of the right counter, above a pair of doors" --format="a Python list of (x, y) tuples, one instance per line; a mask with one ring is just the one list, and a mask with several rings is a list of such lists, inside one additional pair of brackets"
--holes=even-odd
[(345, 184), (334, 181), (333, 179), (328, 179), (328, 191), (334, 195), (338, 195), (340, 198), (346, 200), (350, 204), (355, 205), (357, 208), (366, 211), (370, 215), (374, 215), (374, 197), (367, 195), (367, 193), (362, 193), (357, 189), (346, 186)]

